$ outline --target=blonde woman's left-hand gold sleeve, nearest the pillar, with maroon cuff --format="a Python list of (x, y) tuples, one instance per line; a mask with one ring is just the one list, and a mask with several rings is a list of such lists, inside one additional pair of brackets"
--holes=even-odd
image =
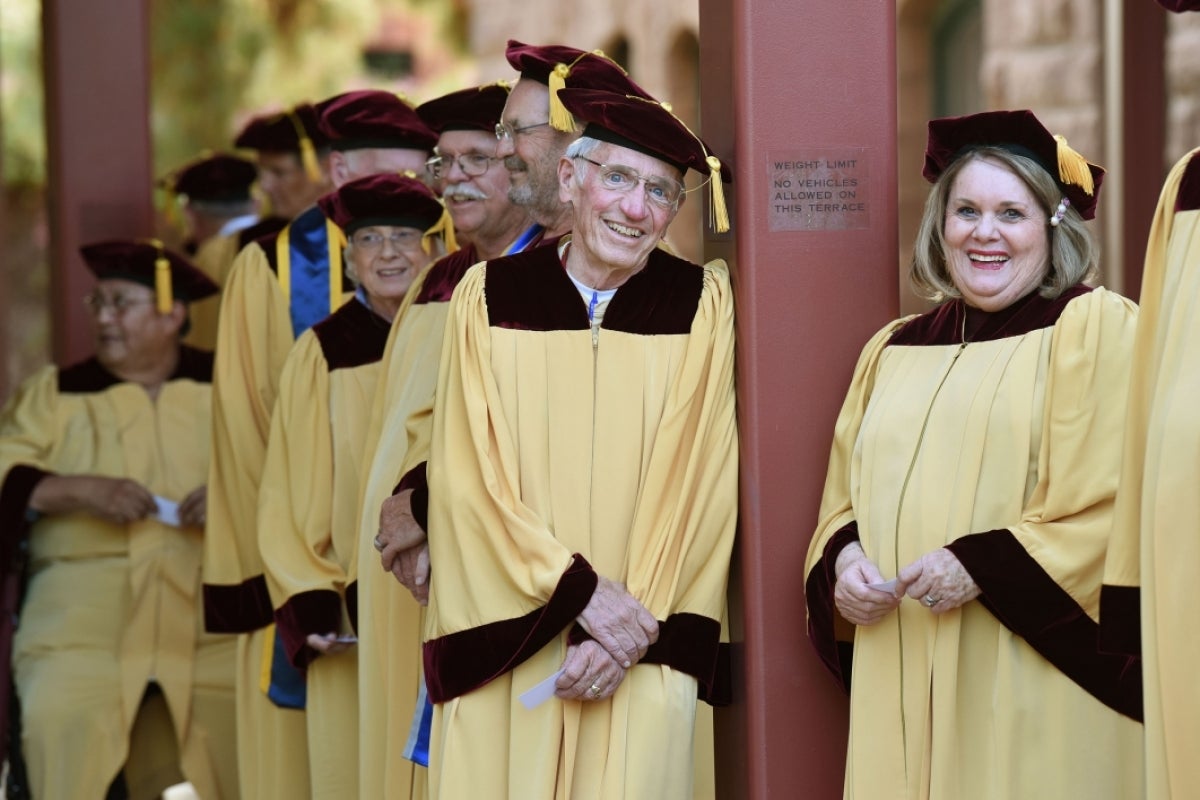
[(858, 541), (858, 527), (851, 503), (854, 446), (871, 401), (880, 356), (883, 355), (888, 339), (907, 319), (911, 318), (892, 321), (877, 331), (858, 356), (846, 399), (834, 425), (817, 529), (809, 543), (804, 565), (809, 639), (824, 664), (847, 690), (854, 626), (834, 607), (833, 590), (836, 579), (833, 567), (842, 548)]

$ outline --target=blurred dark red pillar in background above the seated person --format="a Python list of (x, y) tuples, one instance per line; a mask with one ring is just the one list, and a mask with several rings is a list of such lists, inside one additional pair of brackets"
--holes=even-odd
[(79, 246), (154, 230), (145, 0), (42, 0), (54, 359), (92, 350)]

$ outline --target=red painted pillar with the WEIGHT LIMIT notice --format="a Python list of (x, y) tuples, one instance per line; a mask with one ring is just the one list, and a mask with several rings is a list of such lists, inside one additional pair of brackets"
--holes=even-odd
[(733, 231), (706, 241), (739, 337), (722, 798), (841, 796), (846, 700), (806, 640), (803, 569), (854, 362), (898, 314), (894, 6), (700, 0), (702, 130), (737, 175)]

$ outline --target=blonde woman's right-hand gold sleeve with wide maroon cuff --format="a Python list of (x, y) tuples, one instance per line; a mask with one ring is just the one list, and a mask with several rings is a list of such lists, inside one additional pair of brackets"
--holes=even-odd
[(1037, 481), (1020, 523), (948, 545), (980, 603), (1075, 682), (1141, 715), (1135, 658), (1099, 651), (1100, 585), (1121, 471), (1136, 307), (1097, 289), (1054, 330)]

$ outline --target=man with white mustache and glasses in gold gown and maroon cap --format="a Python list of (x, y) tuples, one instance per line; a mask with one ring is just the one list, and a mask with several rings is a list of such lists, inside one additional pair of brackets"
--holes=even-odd
[[(540, 227), (529, 225), (521, 207), (509, 201), (508, 170), (496, 157), (496, 124), (508, 94), (506, 86), (494, 83), (451, 92), (416, 108), (421, 120), (438, 134), (430, 173), (442, 191), (461, 248), (420, 273), (388, 337), (365, 441), (359, 542), (372, 541), (379, 506), (400, 481), (409, 413), (414, 404), (433, 397), (450, 293), (473, 264), (520, 252), (541, 233)], [(360, 548), (353, 588), (360, 633), (362, 796), (424, 796), (424, 770), (412, 759), (396, 758), (408, 739), (413, 710), (421, 705), (420, 606), (380, 570), (378, 552), (372, 547)]]

